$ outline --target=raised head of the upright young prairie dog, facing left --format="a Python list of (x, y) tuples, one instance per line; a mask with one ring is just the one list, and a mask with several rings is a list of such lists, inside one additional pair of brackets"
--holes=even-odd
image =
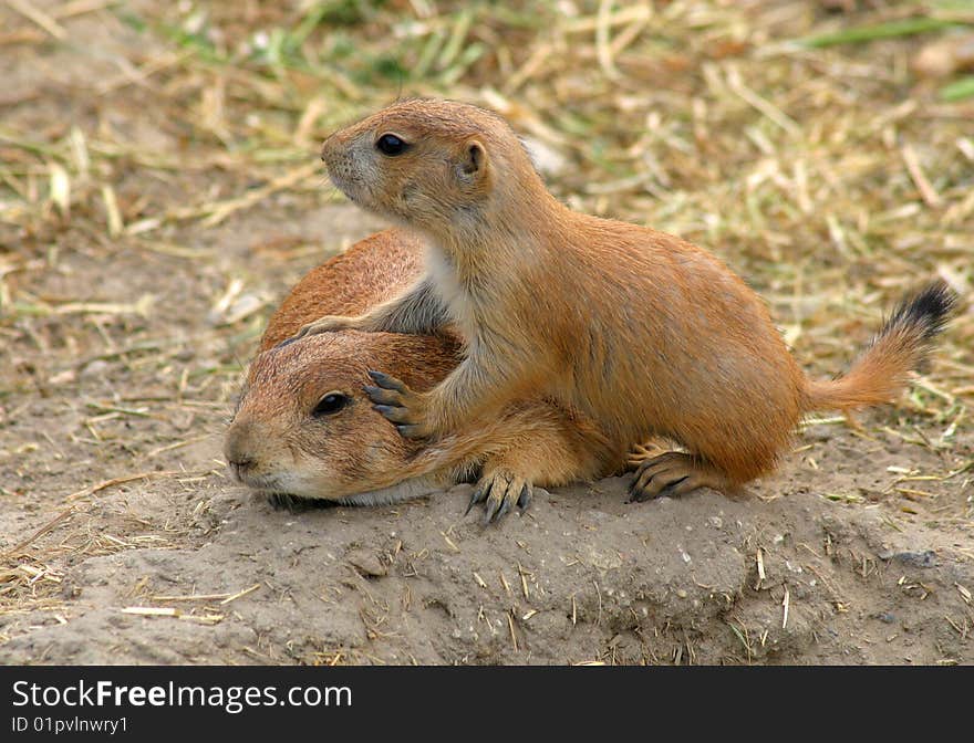
[(396, 103), (330, 136), (321, 158), (352, 201), (434, 233), (540, 186), (507, 122), (453, 101)]

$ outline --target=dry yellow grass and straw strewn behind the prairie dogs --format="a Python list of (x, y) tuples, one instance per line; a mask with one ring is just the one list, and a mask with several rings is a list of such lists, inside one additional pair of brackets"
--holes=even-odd
[[(17, 0), (0, 19), (17, 70), (0, 93), (0, 493), (11, 510), (76, 495), (37, 538), (4, 535), (4, 610), (54, 601), (65, 555), (134, 544), (85, 533), (97, 484), (168, 478), (191, 500), (218, 477), (177, 480), (167, 458), (219, 430), (276, 299), (260, 272), (322, 255), (294, 229), (227, 254), (219, 229), (259, 210), (293, 226), (338, 198), (318, 143), (397, 96), (493, 106), (573, 207), (712, 248), (818, 374), (925, 278), (965, 296), (974, 281), (972, 79), (912, 66), (971, 34), (957, 3)], [(970, 468), (972, 342), (965, 304), (871, 433)], [(923, 499), (931, 481), (911, 478), (930, 477), (970, 493), (944, 462), (898, 492)]]

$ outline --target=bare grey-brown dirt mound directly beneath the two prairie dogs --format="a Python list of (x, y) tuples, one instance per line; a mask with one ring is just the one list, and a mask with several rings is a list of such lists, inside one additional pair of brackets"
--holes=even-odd
[(213, 483), (205, 501), (139, 489), (89, 512), (90, 526), (167, 513), (189, 515), (190, 534), (68, 569), (70, 621), (8, 619), (0, 661), (974, 660), (974, 566), (943, 533), (808, 493), (635, 505), (624, 485), (542, 493), (496, 527), (460, 516), (466, 485), (294, 513)]

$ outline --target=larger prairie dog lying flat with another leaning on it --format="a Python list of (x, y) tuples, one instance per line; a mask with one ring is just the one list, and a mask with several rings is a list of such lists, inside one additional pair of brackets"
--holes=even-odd
[(344, 504), (392, 503), (468, 481), (487, 520), (530, 501), (533, 485), (591, 480), (620, 469), (605, 439), (549, 402), (514, 404), (488, 421), (425, 446), (403, 439), (363, 387), (385, 368), (428, 389), (460, 362), (458, 338), (343, 332), (287, 342), (323, 313), (359, 313), (419, 273), (422, 244), (387, 230), (309, 272), (271, 316), (227, 431), (225, 454), (241, 483), (274, 495)]

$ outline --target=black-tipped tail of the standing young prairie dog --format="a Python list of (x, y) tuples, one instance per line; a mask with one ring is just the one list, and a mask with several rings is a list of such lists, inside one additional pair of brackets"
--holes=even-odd
[(805, 409), (850, 411), (893, 400), (956, 304), (956, 293), (944, 281), (903, 300), (845, 376), (806, 381)]

